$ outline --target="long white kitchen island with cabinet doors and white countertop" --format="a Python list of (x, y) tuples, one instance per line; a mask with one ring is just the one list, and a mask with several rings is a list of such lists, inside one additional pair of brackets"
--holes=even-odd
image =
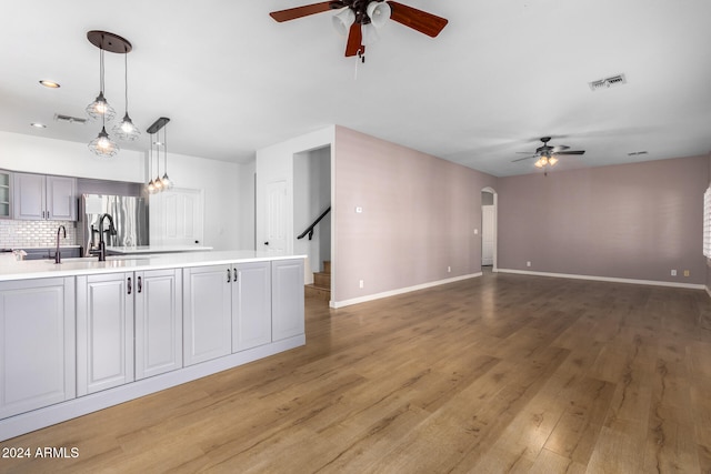
[(0, 440), (306, 343), (303, 255), (0, 266)]

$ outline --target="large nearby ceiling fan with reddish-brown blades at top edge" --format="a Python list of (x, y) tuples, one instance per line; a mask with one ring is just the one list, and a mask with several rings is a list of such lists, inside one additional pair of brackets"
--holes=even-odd
[(272, 11), (269, 14), (282, 22), (328, 10), (340, 10), (333, 17), (333, 26), (343, 36), (348, 33), (346, 57), (363, 54), (365, 44), (377, 39), (375, 28), (382, 27), (388, 19), (431, 38), (437, 37), (448, 22), (444, 18), (390, 0), (332, 0)]

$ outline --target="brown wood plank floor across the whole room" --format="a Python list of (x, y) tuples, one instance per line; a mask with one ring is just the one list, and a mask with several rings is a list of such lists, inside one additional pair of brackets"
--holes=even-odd
[(308, 300), (306, 346), (9, 440), (79, 455), (0, 471), (709, 473), (710, 307), (501, 273)]

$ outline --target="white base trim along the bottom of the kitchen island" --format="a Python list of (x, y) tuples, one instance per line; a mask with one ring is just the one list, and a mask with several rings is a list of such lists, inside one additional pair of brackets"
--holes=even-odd
[(181, 385), (248, 362), (278, 354), (306, 344), (306, 335), (274, 341), (259, 347), (237, 352), (224, 357), (213, 359), (196, 365), (189, 365), (161, 375), (142, 379), (114, 389), (104, 390), (44, 409), (21, 413), (0, 421), (0, 441), (6, 441), (34, 430), (66, 422), (77, 416), (97, 412), (119, 403), (128, 402), (161, 390)]

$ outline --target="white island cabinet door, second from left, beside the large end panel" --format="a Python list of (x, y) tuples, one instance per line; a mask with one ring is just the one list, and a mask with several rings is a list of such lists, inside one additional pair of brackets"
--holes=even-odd
[(77, 276), (77, 393), (133, 381), (133, 273)]

